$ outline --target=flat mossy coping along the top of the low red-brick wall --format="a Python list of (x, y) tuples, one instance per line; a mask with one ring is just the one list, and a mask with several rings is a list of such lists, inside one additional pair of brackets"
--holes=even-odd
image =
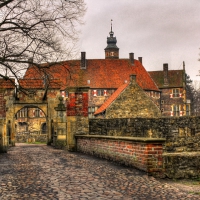
[(143, 143), (164, 143), (165, 138), (147, 138), (147, 137), (121, 137), (121, 136), (105, 136), (105, 135), (75, 135), (76, 138), (98, 138), (98, 139), (112, 139), (112, 140), (128, 140), (133, 142)]

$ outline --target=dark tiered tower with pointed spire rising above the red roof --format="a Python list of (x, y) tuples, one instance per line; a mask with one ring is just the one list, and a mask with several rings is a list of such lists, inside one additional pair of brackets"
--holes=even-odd
[(106, 59), (118, 59), (119, 58), (119, 48), (117, 47), (117, 39), (113, 37), (114, 32), (112, 31), (112, 20), (111, 20), (111, 31), (110, 37), (107, 37), (107, 47), (105, 48), (105, 58)]

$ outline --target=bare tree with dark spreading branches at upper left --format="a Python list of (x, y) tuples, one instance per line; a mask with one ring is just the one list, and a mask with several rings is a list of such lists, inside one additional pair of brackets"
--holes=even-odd
[(0, 0), (0, 78), (69, 58), (84, 13), (84, 0)]

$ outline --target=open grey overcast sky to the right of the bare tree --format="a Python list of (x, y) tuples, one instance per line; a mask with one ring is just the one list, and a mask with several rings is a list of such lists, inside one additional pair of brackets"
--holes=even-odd
[(182, 69), (200, 80), (200, 0), (85, 0), (79, 48), (88, 59), (105, 58), (113, 19), (119, 57), (143, 57), (148, 71)]

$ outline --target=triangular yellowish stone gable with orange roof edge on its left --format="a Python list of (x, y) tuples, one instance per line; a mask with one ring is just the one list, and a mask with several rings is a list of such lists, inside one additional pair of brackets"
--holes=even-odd
[[(120, 89), (120, 88), (119, 88)], [(95, 113), (106, 111), (105, 118), (160, 117), (160, 109), (144, 90), (132, 80), (117, 90)]]

